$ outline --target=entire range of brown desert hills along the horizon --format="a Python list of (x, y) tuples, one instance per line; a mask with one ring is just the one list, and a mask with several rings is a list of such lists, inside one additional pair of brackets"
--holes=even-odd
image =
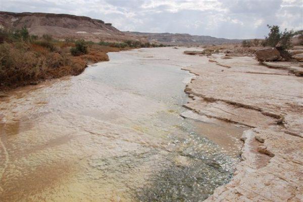
[(49, 34), (59, 39), (71, 37), (95, 42), (100, 40), (140, 40), (151, 43), (190, 45), (238, 43), (242, 41), (190, 34), (122, 32), (113, 27), (111, 23), (69, 14), (0, 12), (0, 28), (20, 29), (24, 26), (28, 28), (30, 34), (38, 36)]

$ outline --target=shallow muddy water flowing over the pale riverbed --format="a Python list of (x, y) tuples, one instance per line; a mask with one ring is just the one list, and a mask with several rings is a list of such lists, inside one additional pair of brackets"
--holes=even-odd
[(227, 183), (243, 129), (180, 116), (183, 51), (111, 53), (2, 98), (1, 201), (201, 201)]

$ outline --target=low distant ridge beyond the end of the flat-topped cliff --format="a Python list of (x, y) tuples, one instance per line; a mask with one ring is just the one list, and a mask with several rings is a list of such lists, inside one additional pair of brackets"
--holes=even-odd
[(216, 38), (212, 36), (198, 36), (190, 34), (173, 34), (173, 33), (144, 33), (144, 32), (124, 32), (126, 35), (135, 35), (149, 42), (163, 44), (220, 44), (220, 43), (240, 43), (240, 39)]

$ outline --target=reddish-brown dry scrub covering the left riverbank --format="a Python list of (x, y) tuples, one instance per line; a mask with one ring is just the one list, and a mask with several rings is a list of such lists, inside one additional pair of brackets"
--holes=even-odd
[[(88, 63), (108, 61), (108, 52), (117, 48), (91, 44), (88, 54), (71, 56), (73, 42), (55, 41), (49, 48), (37, 42), (4, 42), (0, 44), (0, 90), (37, 83), (46, 79), (78, 75)], [(129, 48), (128, 48), (129, 49)]]

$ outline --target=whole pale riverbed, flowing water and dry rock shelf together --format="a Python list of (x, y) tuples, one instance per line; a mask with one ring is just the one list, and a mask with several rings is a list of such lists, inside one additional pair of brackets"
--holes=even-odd
[(112, 53), (2, 97), (0, 199), (301, 201), (301, 67), (184, 51), (203, 48)]

